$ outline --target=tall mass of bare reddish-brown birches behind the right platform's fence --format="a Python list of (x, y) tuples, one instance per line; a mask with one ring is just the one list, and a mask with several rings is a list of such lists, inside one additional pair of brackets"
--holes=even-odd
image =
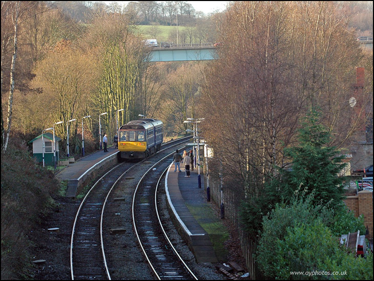
[(202, 126), (247, 196), (287, 163), (283, 148), (295, 141), (299, 118), (310, 108), (323, 109), (338, 142), (355, 131), (342, 118), (351, 114), (347, 95), (360, 61), (347, 23), (334, 3), (233, 2), (228, 8), (219, 58), (205, 70), (201, 106), (214, 110), (204, 111)]

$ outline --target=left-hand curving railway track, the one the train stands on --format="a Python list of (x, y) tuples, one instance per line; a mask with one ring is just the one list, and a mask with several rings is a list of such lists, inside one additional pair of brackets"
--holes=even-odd
[[(161, 151), (183, 141), (182, 138), (164, 144)], [(160, 156), (156, 154), (152, 158), (157, 157)], [(105, 203), (111, 190), (123, 175), (140, 163), (122, 163), (115, 166), (97, 180), (82, 200), (74, 219), (71, 235), (70, 268), (72, 279), (111, 279), (102, 238), (102, 217)]]

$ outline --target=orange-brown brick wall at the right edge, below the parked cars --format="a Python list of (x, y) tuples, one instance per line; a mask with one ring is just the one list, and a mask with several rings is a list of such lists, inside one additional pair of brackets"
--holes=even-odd
[(370, 238), (373, 237), (373, 222), (372, 222), (372, 192), (363, 190), (358, 196), (347, 196), (344, 199), (345, 204), (349, 210), (355, 212), (355, 216), (364, 215), (365, 227), (369, 228)]

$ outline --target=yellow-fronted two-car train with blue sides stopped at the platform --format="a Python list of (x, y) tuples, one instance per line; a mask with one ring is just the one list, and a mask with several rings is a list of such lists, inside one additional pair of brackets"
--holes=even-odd
[(163, 123), (152, 118), (130, 121), (118, 129), (118, 159), (142, 159), (161, 149)]

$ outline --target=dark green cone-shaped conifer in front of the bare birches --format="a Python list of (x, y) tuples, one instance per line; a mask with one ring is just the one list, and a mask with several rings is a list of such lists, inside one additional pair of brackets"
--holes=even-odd
[[(320, 124), (320, 113), (311, 112), (299, 130), (298, 146), (284, 150), (292, 159), (292, 168), (279, 169), (280, 177), (272, 186), (290, 202), (294, 195), (314, 193), (314, 203), (334, 207), (341, 203), (344, 177), (339, 172), (345, 167), (344, 155), (336, 147), (329, 147), (331, 134)], [(340, 155), (339, 155), (340, 154)], [(300, 196), (299, 196), (300, 197)]]

